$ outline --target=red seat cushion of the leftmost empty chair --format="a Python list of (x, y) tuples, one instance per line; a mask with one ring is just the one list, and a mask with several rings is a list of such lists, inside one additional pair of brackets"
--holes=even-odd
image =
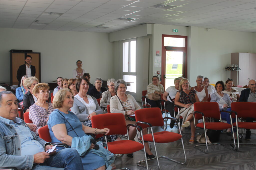
[(108, 149), (113, 154), (126, 154), (139, 151), (143, 149), (142, 143), (133, 140), (119, 140), (108, 142)]

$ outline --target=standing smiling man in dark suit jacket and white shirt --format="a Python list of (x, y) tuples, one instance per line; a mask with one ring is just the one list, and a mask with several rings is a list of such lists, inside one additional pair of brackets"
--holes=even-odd
[(17, 71), (17, 79), (19, 81), (18, 87), (20, 86), (20, 81), (22, 76), (26, 75), (28, 77), (35, 76), (36, 68), (31, 64), (32, 57), (30, 55), (25, 56), (25, 64), (19, 66)]

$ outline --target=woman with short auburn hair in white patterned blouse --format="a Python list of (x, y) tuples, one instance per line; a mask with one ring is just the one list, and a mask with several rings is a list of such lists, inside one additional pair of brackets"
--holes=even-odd
[(46, 102), (49, 98), (49, 88), (47, 83), (38, 83), (33, 88), (37, 101), (29, 107), (29, 119), (37, 125), (36, 135), (40, 127), (47, 125), (49, 115), (54, 110), (52, 103)]

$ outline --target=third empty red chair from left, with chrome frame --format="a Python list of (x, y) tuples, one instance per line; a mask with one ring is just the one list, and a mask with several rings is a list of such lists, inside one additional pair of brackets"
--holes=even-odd
[[(224, 111), (224, 110), (222, 110), (222, 111)], [(228, 112), (228, 111), (226, 111), (226, 112)], [(205, 122), (205, 118), (217, 119), (217, 120), (220, 120), (220, 122)], [(203, 122), (196, 124), (195, 119), (203, 119)], [(223, 130), (223, 129), (228, 129), (228, 128), (232, 127), (231, 124), (227, 124), (227, 123), (224, 123), (221, 121), (219, 104), (217, 102), (196, 102), (196, 103), (194, 103), (194, 123), (196, 125), (196, 128), (204, 129), (205, 141), (207, 141), (206, 129)], [(234, 135), (233, 135), (233, 137), (234, 137)], [(235, 140), (234, 140), (234, 142), (235, 142)], [(225, 148), (228, 148), (220, 143), (208, 144), (207, 142), (206, 142), (206, 144), (195, 145), (194, 147), (204, 153), (207, 153), (208, 145), (220, 145)], [(198, 148), (200, 146), (206, 146), (206, 151)], [(228, 148), (228, 149), (230, 149), (230, 148)]]

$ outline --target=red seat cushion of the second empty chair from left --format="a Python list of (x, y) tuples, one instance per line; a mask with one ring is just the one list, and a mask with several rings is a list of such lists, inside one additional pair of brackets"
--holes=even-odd
[[(143, 138), (144, 141), (153, 142), (152, 134), (143, 135)], [(154, 133), (154, 138), (156, 143), (168, 143), (179, 140), (180, 138), (182, 138), (182, 136), (174, 132), (163, 131)]]

